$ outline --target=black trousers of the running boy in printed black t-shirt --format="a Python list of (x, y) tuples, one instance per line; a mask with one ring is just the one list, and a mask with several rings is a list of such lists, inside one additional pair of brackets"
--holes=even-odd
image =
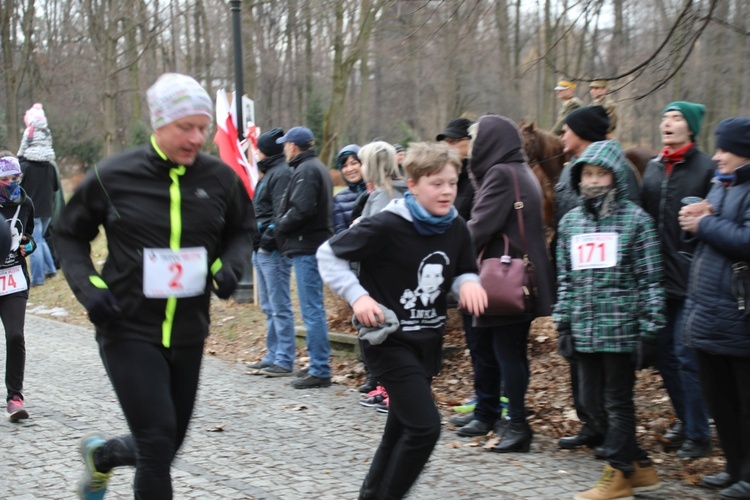
[(389, 372), (378, 380), (388, 392), (388, 420), (360, 498), (403, 498), (440, 437), (440, 413), (432, 399), (431, 379), (414, 368)]

